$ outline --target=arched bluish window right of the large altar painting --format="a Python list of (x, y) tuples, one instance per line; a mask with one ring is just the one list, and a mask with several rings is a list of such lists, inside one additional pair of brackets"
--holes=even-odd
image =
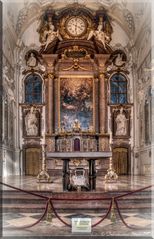
[(111, 104), (127, 103), (127, 79), (122, 74), (115, 74), (110, 81)]

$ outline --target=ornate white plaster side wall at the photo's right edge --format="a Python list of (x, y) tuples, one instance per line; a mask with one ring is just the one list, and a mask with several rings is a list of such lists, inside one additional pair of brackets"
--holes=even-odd
[[(149, 19), (147, 18), (147, 21)], [(136, 73), (134, 76), (134, 149), (138, 154), (135, 159), (135, 174), (148, 175), (151, 171), (151, 145), (145, 143), (145, 112), (144, 104), (148, 89), (151, 85), (151, 64), (147, 56), (151, 51), (151, 23), (144, 24), (135, 42), (136, 58), (133, 57)], [(133, 55), (134, 56), (134, 55)], [(142, 135), (141, 135), (142, 124)]]

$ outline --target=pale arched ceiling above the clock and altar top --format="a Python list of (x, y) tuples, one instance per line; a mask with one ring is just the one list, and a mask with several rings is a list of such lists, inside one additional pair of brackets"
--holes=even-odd
[(133, 0), (3, 0), (4, 17), (7, 16), (20, 38), (27, 27), (39, 19), (48, 6), (61, 9), (69, 4), (79, 3), (84, 7), (97, 10), (101, 7), (107, 9), (108, 14), (126, 32), (130, 39), (137, 37), (138, 32), (150, 17), (150, 1)]

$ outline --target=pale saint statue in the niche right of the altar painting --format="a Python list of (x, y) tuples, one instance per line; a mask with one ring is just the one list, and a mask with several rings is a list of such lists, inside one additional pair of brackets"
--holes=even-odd
[(125, 114), (123, 113), (123, 108), (120, 109), (120, 113), (117, 115), (115, 119), (117, 129), (115, 135), (126, 135), (127, 134), (127, 119)]

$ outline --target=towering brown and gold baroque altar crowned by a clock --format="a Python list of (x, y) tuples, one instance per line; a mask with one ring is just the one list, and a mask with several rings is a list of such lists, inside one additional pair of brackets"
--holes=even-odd
[[(127, 74), (126, 54), (110, 46), (111, 21), (104, 9), (92, 12), (77, 3), (57, 12), (49, 8), (37, 29), (40, 50), (25, 55), (25, 96), (20, 104), (25, 165), (31, 167), (30, 148), (45, 148), (44, 167), (51, 175), (63, 172), (64, 190), (72, 160), (80, 159), (91, 180), (97, 162), (98, 173), (106, 173), (119, 140), (124, 139), (129, 149), (131, 105), (125, 94), (112, 104), (108, 93), (110, 76), (114, 73), (115, 81), (119, 77), (124, 85), (119, 72)], [(114, 93), (111, 96), (111, 101), (116, 99)], [(94, 181), (89, 184), (95, 189)]]

